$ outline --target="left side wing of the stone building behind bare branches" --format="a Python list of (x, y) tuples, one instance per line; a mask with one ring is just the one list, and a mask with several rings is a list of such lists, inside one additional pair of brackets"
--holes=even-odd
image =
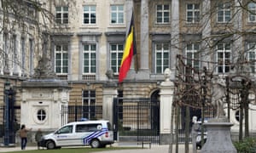
[[(15, 105), (20, 105), (20, 82), (31, 77), (42, 54), (39, 38), (40, 3), (19, 1), (0, 2), (0, 104), (5, 105), (4, 88), (10, 82), (15, 91)], [(3, 108), (3, 107), (2, 107)], [(0, 113), (3, 122), (3, 109)], [(20, 122), (20, 116), (17, 116)]]

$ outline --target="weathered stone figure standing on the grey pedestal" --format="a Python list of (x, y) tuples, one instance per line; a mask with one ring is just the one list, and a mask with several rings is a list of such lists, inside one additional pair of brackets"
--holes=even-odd
[(212, 105), (216, 108), (217, 113), (215, 118), (225, 118), (224, 113), (224, 98), (226, 95), (225, 81), (223, 78), (213, 77), (212, 79)]

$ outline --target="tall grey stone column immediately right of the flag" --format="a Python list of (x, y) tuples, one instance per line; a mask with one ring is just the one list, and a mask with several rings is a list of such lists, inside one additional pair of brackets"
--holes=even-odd
[(149, 79), (149, 66), (148, 66), (148, 0), (141, 1), (141, 36), (140, 36), (140, 69), (137, 73), (138, 79)]

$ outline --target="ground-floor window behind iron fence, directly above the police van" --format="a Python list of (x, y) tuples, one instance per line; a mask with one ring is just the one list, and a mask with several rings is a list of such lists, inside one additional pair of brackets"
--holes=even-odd
[(96, 111), (96, 91), (83, 90), (83, 117), (91, 119), (95, 117)]

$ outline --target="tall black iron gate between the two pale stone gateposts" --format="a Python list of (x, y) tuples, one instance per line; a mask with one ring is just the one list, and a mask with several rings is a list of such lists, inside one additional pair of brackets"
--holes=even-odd
[(160, 102), (148, 98), (113, 99), (114, 139), (159, 144)]

